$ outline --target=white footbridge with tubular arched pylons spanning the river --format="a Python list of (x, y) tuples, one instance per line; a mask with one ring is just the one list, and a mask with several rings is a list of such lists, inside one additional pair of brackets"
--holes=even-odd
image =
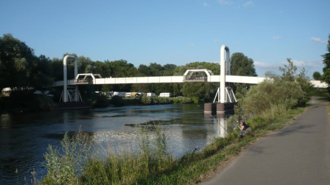
[[(225, 58), (226, 52), (226, 58)], [(75, 79), (67, 80), (67, 59), (74, 59), (74, 76)], [(206, 69), (190, 69), (183, 76), (152, 76), (152, 77), (124, 77), (124, 78), (102, 78), (99, 74), (85, 73), (78, 74), (78, 60), (74, 56), (67, 55), (63, 59), (63, 81), (57, 81), (53, 86), (63, 86), (61, 99), (63, 101), (79, 101), (81, 100), (78, 91), (78, 84), (152, 84), (152, 83), (185, 83), (185, 82), (205, 82), (205, 83), (220, 83), (220, 88), (214, 102), (218, 96), (219, 103), (233, 102), (232, 96), (235, 99), (232, 89), (225, 87), (224, 82), (229, 83), (245, 83), (258, 84), (264, 81), (264, 77), (251, 76), (231, 76), (230, 75), (230, 53), (229, 48), (225, 45), (220, 49), (220, 75), (213, 75), (212, 71)], [(194, 73), (197, 73), (194, 75)], [(79, 78), (82, 77), (83, 78)], [(90, 78), (89, 78), (90, 77)], [(311, 81), (314, 87), (327, 88), (328, 85), (320, 81)], [(68, 90), (68, 85), (74, 85), (74, 90)], [(229, 100), (229, 101), (228, 101)], [(235, 99), (236, 101), (236, 99)]]

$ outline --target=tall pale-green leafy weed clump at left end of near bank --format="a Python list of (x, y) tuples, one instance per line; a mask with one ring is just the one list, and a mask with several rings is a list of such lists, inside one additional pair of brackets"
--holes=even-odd
[(92, 139), (81, 130), (72, 138), (66, 133), (61, 146), (61, 149), (48, 146), (44, 155), (48, 173), (41, 185), (73, 185), (82, 175), (91, 153)]

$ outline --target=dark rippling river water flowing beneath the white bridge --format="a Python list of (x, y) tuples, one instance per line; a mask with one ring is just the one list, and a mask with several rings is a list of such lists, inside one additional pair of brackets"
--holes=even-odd
[[(218, 116), (218, 118), (216, 118)], [(59, 146), (66, 132), (87, 132), (102, 145), (134, 143), (137, 124), (162, 123), (170, 152), (180, 156), (223, 137), (226, 115), (203, 113), (203, 104), (107, 107), (0, 115), (0, 185), (30, 182), (46, 173), (42, 162), (49, 144)], [(153, 131), (150, 131), (152, 135)], [(193, 140), (193, 141), (192, 141)], [(15, 170), (18, 169), (18, 174)], [(18, 177), (17, 177), (18, 176)], [(24, 181), (25, 177), (25, 181)]]

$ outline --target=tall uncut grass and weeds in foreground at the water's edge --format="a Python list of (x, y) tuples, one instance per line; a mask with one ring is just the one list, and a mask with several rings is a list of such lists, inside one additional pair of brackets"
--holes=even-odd
[[(150, 138), (149, 129), (155, 133), (153, 138)], [(48, 147), (45, 154), (48, 174), (41, 184), (140, 184), (149, 176), (164, 173), (178, 165), (178, 160), (167, 151), (165, 132), (160, 125), (139, 127), (136, 140), (137, 149), (128, 144), (115, 149), (105, 148), (100, 143), (95, 148), (82, 131), (72, 138), (65, 134), (61, 141), (62, 150)]]

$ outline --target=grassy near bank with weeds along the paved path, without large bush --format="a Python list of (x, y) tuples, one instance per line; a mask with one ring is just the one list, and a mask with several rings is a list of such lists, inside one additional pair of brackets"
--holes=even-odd
[(253, 131), (243, 139), (238, 138), (237, 130), (231, 130), (225, 138), (216, 138), (212, 144), (193, 157), (188, 153), (180, 159), (173, 158), (167, 152), (164, 132), (158, 126), (153, 128), (156, 134), (152, 138), (149, 137), (150, 133), (147, 129), (140, 130), (137, 151), (127, 146), (119, 151), (103, 148), (105, 158), (97, 157), (98, 155), (81, 158), (84, 156), (81, 152), (76, 154), (70, 150), (87, 149), (88, 147), (84, 145), (87, 143), (85, 137), (71, 140), (66, 137), (62, 146), (67, 152), (60, 154), (60, 151), (54, 152), (50, 151), (54, 149), (49, 149), (46, 155), (48, 174), (41, 184), (189, 185), (197, 183), (220, 167), (222, 162), (237, 155), (258, 138), (292, 122), (305, 109), (306, 107), (300, 107), (285, 113), (281, 112), (271, 120), (266, 117), (256, 117), (248, 122)]

